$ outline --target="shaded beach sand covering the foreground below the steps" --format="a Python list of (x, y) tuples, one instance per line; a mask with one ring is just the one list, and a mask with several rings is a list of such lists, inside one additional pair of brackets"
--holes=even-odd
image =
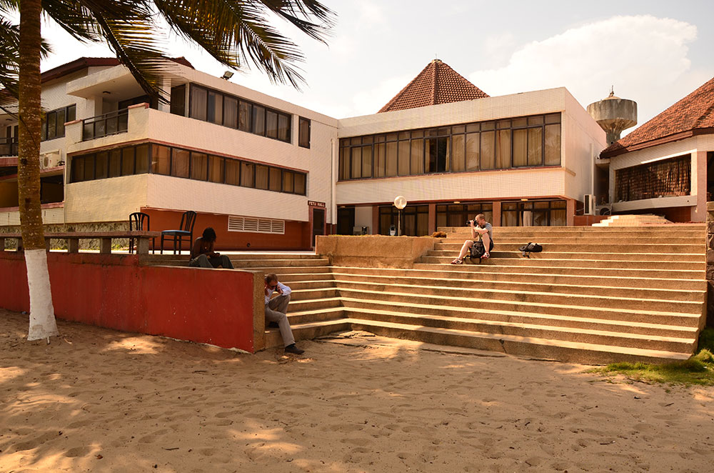
[(377, 337), (284, 357), (26, 329), (0, 310), (0, 472), (714, 470), (714, 388)]

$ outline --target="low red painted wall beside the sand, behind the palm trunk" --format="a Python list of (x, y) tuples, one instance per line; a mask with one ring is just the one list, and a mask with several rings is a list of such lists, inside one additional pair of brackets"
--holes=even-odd
[[(139, 266), (135, 255), (47, 255), (59, 319), (253, 352), (253, 274)], [(29, 311), (22, 254), (0, 252), (0, 307)]]

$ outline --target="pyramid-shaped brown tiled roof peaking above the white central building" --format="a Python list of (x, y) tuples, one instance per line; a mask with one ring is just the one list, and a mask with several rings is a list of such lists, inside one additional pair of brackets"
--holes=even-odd
[(419, 106), (451, 104), (488, 97), (484, 91), (439, 59), (431, 61), (409, 84), (394, 96), (379, 113)]

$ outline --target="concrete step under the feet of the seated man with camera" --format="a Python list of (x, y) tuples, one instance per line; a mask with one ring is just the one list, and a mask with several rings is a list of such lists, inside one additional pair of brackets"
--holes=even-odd
[[(648, 261), (648, 260), (635, 260), (635, 259), (575, 259), (575, 258), (543, 258), (540, 257), (543, 253), (536, 253), (531, 255), (531, 258), (523, 257), (512, 257), (512, 258), (499, 258), (494, 255), (490, 259), (482, 259), (481, 262), (476, 262), (473, 264), (481, 264), (481, 266), (544, 266), (549, 267), (573, 267), (573, 268), (620, 268), (620, 269), (678, 269), (678, 270), (690, 270), (690, 271), (704, 271), (705, 263), (702, 262), (683, 262), (683, 261), (673, 261), (673, 262), (660, 262), (660, 261)], [(450, 257), (431, 257), (425, 256), (421, 257), (421, 263), (426, 264), (448, 264), (450, 263), (456, 255)], [(467, 259), (467, 265), (471, 262)], [(464, 266), (463, 264), (461, 266)]]

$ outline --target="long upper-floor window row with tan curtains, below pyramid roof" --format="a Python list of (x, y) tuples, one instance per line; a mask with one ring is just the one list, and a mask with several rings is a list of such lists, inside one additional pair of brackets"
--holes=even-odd
[(340, 180), (560, 165), (560, 114), (340, 140)]

